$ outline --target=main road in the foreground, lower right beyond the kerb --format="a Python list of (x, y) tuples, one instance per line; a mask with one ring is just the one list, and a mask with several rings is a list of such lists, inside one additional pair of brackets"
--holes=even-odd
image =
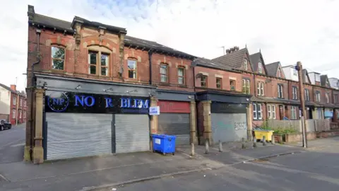
[(119, 191), (339, 190), (339, 139), (336, 139), (335, 144), (302, 153), (109, 187), (107, 190), (112, 188)]

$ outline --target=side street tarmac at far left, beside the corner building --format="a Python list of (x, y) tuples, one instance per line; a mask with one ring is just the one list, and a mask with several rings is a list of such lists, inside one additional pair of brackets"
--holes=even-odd
[(0, 132), (0, 163), (23, 161), (25, 124), (13, 125), (12, 129)]

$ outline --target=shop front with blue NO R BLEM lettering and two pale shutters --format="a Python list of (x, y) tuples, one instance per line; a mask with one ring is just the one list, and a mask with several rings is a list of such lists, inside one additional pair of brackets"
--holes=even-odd
[(37, 81), (47, 84), (44, 160), (150, 150), (152, 86), (46, 76)]

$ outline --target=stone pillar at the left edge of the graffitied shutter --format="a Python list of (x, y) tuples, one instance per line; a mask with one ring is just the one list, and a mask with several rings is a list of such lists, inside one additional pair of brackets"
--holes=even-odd
[(203, 138), (208, 140), (208, 143), (213, 144), (212, 124), (210, 121), (210, 100), (204, 100), (203, 103)]

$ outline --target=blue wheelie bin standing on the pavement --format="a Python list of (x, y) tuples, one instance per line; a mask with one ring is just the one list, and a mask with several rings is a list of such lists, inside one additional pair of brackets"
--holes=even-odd
[(175, 154), (175, 136), (167, 134), (152, 134), (153, 152)]

